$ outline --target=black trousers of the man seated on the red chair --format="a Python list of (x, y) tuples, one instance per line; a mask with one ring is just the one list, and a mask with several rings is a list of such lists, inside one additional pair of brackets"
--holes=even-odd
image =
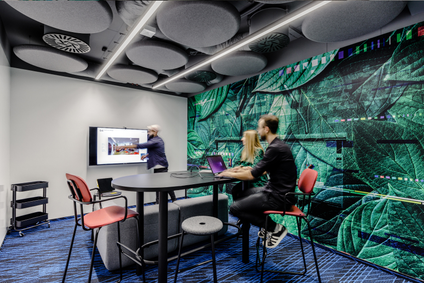
[[(237, 190), (238, 198), (233, 199), (230, 211), (234, 216), (244, 222), (252, 223), (260, 228), (265, 227), (266, 215), (263, 214), (267, 210), (284, 209), (284, 200), (281, 201), (274, 197), (270, 192), (264, 192), (264, 188), (249, 188), (243, 192)], [(288, 203), (288, 205), (291, 205)], [(274, 231), (277, 223), (272, 219), (268, 219), (268, 231)]]

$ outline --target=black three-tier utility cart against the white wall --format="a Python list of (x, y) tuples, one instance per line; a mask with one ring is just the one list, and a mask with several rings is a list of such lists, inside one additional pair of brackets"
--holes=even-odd
[[(47, 187), (49, 187), (49, 182), (45, 181), (36, 181), (11, 185), (11, 191), (13, 191), (13, 200), (11, 201), (12, 226), (8, 228), (8, 234), (10, 234), (13, 229), (15, 231), (19, 231), (19, 235), (22, 237), (24, 236), (24, 233), (22, 231), (33, 227), (48, 224), (50, 228), (50, 221), (47, 220), (49, 218), (49, 214), (46, 212), (46, 204), (49, 202), (49, 198), (46, 197)], [(43, 189), (42, 197), (32, 197), (19, 200), (16, 197), (17, 192), (27, 192), (38, 189)], [(34, 212), (26, 215), (16, 216), (17, 209), (24, 209), (38, 205), (43, 205), (43, 212)]]

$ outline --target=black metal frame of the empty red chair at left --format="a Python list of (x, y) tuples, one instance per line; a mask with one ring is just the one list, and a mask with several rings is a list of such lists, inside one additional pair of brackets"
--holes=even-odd
[[(128, 213), (128, 207), (127, 207), (128, 206), (128, 200), (125, 196), (118, 196), (118, 197), (113, 197), (113, 198), (108, 198), (108, 199), (102, 200), (101, 196), (100, 196), (101, 195), (100, 190), (98, 188), (94, 188), (94, 189), (90, 189), (90, 191), (97, 190), (98, 193), (99, 193), (99, 200), (98, 201), (96, 201), (96, 200), (91, 201), (90, 200), (89, 202), (82, 202), (82, 201), (78, 200), (78, 199), (82, 200), (83, 197), (82, 197), (81, 191), (78, 188), (77, 184), (73, 180), (66, 180), (66, 182), (68, 184), (69, 190), (71, 191), (71, 195), (68, 196), (68, 198), (74, 202), (75, 226), (74, 226), (74, 232), (72, 233), (71, 246), (69, 247), (68, 259), (66, 260), (65, 272), (63, 274), (62, 283), (65, 282), (66, 272), (68, 271), (68, 265), (69, 265), (69, 260), (71, 258), (72, 246), (74, 245), (74, 239), (75, 239), (75, 234), (76, 234), (76, 231), (77, 231), (77, 226), (81, 226), (81, 228), (85, 231), (94, 230), (94, 229), (91, 229), (91, 228), (86, 228), (85, 225), (84, 225), (83, 205), (86, 205), (86, 204), (93, 204), (94, 205), (96, 203), (99, 203), (101, 205), (102, 202), (114, 200), (114, 199), (119, 199), (119, 198), (123, 198), (125, 200), (125, 216), (124, 216), (124, 219), (117, 222), (118, 223), (118, 242), (120, 241), (119, 223), (124, 222), (127, 219), (127, 213)], [(76, 193), (73, 190), (73, 188), (75, 188)], [(78, 199), (77, 199), (77, 196), (78, 196)], [(80, 205), (80, 212), (81, 212), (80, 216), (81, 217), (78, 217), (78, 214), (77, 214), (77, 203)], [(135, 218), (137, 220), (137, 225), (138, 225), (138, 218), (137, 217), (135, 217)], [(79, 223), (80, 220), (81, 220), (81, 224)], [(94, 265), (94, 254), (95, 254), (96, 246), (97, 246), (97, 236), (99, 234), (100, 228), (97, 228), (96, 232), (94, 233), (94, 244), (93, 244), (93, 251), (91, 253), (90, 274), (88, 276), (88, 282), (89, 283), (91, 282), (91, 275), (92, 275), (92, 272), (93, 272), (93, 265)], [(118, 245), (118, 247), (119, 247), (119, 245)], [(121, 251), (120, 248), (119, 248), (119, 251)], [(119, 259), (121, 259), (121, 252), (119, 252)], [(121, 271), (121, 277), (117, 282), (120, 282), (121, 280), (122, 280), (122, 271)]]

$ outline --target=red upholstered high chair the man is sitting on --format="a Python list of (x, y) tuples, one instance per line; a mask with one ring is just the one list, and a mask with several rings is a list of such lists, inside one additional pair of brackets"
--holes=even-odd
[[(314, 259), (315, 259), (315, 265), (317, 268), (317, 274), (318, 274), (318, 281), (321, 283), (321, 277), (319, 275), (319, 270), (318, 270), (318, 262), (317, 262), (317, 256), (315, 254), (315, 247), (314, 247), (314, 241), (312, 239), (312, 233), (311, 233), (311, 226), (309, 224), (309, 220), (308, 220), (308, 214), (309, 214), (309, 204), (311, 202), (311, 196), (314, 195), (313, 193), (313, 189), (315, 186), (315, 182), (317, 181), (317, 177), (318, 177), (318, 172), (316, 172), (315, 170), (312, 169), (305, 169), (303, 170), (302, 174), (299, 177), (299, 181), (298, 181), (298, 188), (302, 193), (287, 193), (287, 195), (298, 195), (298, 196), (303, 196), (303, 202), (302, 202), (302, 209), (299, 209), (297, 206), (292, 205), (290, 207), (286, 208), (286, 197), (284, 198), (284, 210), (283, 211), (265, 211), (264, 213), (267, 215), (267, 219), (265, 221), (265, 230), (267, 231), (267, 226), (268, 226), (268, 218), (270, 216), (270, 214), (280, 214), (281, 216), (284, 215), (289, 215), (289, 216), (295, 216), (296, 217), (296, 222), (297, 222), (297, 227), (298, 227), (298, 233), (299, 233), (299, 239), (300, 239), (300, 247), (302, 249), (302, 255), (303, 255), (303, 264), (305, 266), (305, 270), (303, 272), (290, 272), (290, 271), (279, 271), (279, 270), (264, 270), (264, 265), (265, 265), (265, 259), (267, 258), (267, 248), (266, 248), (266, 240), (264, 241), (264, 250), (263, 250), (263, 254), (262, 254), (262, 261), (260, 261), (260, 254), (259, 254), (259, 244), (261, 242), (261, 238), (258, 237), (258, 240), (256, 242), (256, 263), (255, 263), (255, 267), (256, 267), (256, 271), (259, 272), (258, 270), (258, 262), (259, 265), (262, 266), (261, 269), (261, 283), (263, 281), (263, 277), (264, 277), (264, 271), (267, 272), (277, 272), (277, 273), (282, 273), (282, 274), (297, 274), (297, 275), (305, 275), (306, 274), (306, 260), (305, 260), (305, 253), (303, 251), (303, 243), (302, 243), (302, 238), (301, 238), (301, 234), (300, 234), (300, 227), (301, 227), (301, 223), (302, 223), (302, 219), (306, 221), (306, 223), (308, 224), (308, 231), (309, 231), (309, 237), (311, 239), (311, 244), (312, 244), (312, 251), (314, 253)], [(307, 201), (306, 201), (307, 199)], [(308, 203), (308, 212), (306, 214), (303, 213), (303, 210), (305, 208), (305, 203)]]

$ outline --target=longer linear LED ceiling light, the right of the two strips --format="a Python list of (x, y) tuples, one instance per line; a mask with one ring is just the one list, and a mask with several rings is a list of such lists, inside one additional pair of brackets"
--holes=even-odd
[(315, 1), (313, 1), (312, 4), (307, 4), (308, 6), (313, 5), (313, 7), (308, 8), (307, 10), (299, 13), (298, 15), (293, 16), (292, 18), (287, 19), (286, 21), (283, 21), (283, 22), (278, 21), (278, 22), (274, 23), (274, 25), (271, 24), (271, 25), (268, 26), (269, 28), (267, 30), (265, 30), (263, 32), (260, 32), (259, 34), (255, 35), (255, 36), (253, 36), (251, 38), (247, 37), (247, 38), (245, 38), (245, 40), (241, 40), (238, 43), (233, 44), (232, 46), (230, 46), (230, 47), (224, 49), (222, 52), (218, 53), (216, 56), (213, 56), (213, 58), (210, 58), (210, 59), (208, 59), (208, 60), (200, 63), (199, 65), (193, 66), (192, 68), (189, 68), (189, 69), (185, 70), (182, 73), (176, 74), (176, 75), (170, 77), (169, 79), (164, 80), (161, 83), (157, 83), (157, 84), (153, 85), (152, 88), (157, 88), (159, 86), (162, 86), (162, 85), (164, 85), (164, 84), (166, 84), (166, 83), (168, 83), (170, 81), (173, 81), (173, 80), (175, 80), (177, 78), (180, 78), (180, 77), (184, 76), (185, 74), (188, 74), (188, 73), (190, 73), (190, 72), (192, 72), (192, 71), (194, 71), (194, 70), (196, 70), (196, 69), (198, 69), (198, 68), (200, 68), (200, 67), (202, 67), (204, 65), (207, 65), (210, 62), (213, 62), (213, 61), (215, 61), (215, 60), (217, 60), (217, 59), (219, 59), (219, 58), (221, 58), (221, 57), (229, 54), (230, 52), (233, 52), (233, 51), (235, 51), (235, 50), (237, 50), (237, 49), (239, 49), (239, 48), (241, 48), (241, 47), (243, 47), (243, 46), (251, 43), (252, 41), (255, 41), (255, 40), (263, 37), (264, 35), (269, 34), (270, 32), (275, 31), (275, 30), (277, 30), (277, 29), (279, 29), (279, 28), (281, 28), (281, 27), (283, 27), (283, 26), (285, 26), (285, 25), (293, 22), (294, 20), (297, 20), (300, 17), (303, 17), (303, 16), (311, 13), (312, 11), (314, 11), (314, 10), (316, 10), (316, 9), (318, 9), (318, 8), (320, 8), (320, 7), (328, 4), (328, 3), (330, 3), (331, 1), (322, 1), (322, 2), (320, 2), (318, 4), (315, 4), (314, 2)]

